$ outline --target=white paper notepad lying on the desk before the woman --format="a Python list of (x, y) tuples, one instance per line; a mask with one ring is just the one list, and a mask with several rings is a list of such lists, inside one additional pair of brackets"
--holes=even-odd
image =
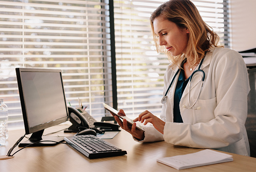
[(182, 170), (186, 168), (193, 168), (215, 163), (222, 163), (233, 161), (232, 155), (221, 153), (206, 149), (196, 153), (189, 153), (186, 155), (177, 155), (172, 157), (159, 158), (157, 162), (163, 163), (167, 166)]

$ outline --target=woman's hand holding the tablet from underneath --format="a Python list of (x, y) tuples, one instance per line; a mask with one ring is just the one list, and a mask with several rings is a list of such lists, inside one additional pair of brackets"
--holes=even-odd
[[(129, 132), (133, 137), (136, 137), (139, 140), (144, 140), (144, 138), (145, 138), (144, 132), (139, 130), (139, 129), (136, 129), (136, 123), (133, 123), (131, 125), (131, 124), (127, 123), (126, 119), (123, 119), (123, 122), (122, 122), (117, 115), (115, 115), (115, 114), (112, 114), (112, 115), (114, 116), (114, 118), (117, 121), (118, 125), (120, 125), (120, 127), (122, 129), (124, 129), (125, 131)], [(119, 110), (118, 115), (125, 116), (125, 113), (124, 113), (123, 109)]]

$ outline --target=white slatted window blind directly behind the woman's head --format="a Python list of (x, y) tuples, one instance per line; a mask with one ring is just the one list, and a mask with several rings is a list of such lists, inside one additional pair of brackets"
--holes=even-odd
[[(114, 0), (118, 109), (131, 118), (144, 110), (159, 116), (163, 75), (169, 64), (157, 54), (149, 17), (166, 0)], [(203, 20), (227, 41), (227, 13), (223, 0), (193, 0)], [(225, 6), (224, 6), (225, 5)]]

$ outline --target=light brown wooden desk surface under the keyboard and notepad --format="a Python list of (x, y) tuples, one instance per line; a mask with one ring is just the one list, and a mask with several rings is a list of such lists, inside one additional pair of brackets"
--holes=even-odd
[[(67, 128), (67, 125), (58, 125), (46, 129), (44, 134)], [(24, 130), (9, 131), (6, 146), (0, 147), (0, 155), (6, 155)], [(73, 134), (58, 133), (52, 136), (70, 136)], [(175, 146), (164, 141), (152, 143), (138, 143), (127, 132), (120, 131), (108, 142), (127, 151), (127, 155), (99, 158), (90, 160), (73, 147), (58, 144), (49, 147), (27, 147), (14, 155), (14, 158), (0, 160), (0, 171), (178, 171), (172, 167), (157, 162), (157, 158), (198, 152), (202, 149)], [(18, 150), (16, 147), (12, 153)], [(233, 155), (232, 162), (219, 163), (182, 171), (256, 171), (256, 158)]]

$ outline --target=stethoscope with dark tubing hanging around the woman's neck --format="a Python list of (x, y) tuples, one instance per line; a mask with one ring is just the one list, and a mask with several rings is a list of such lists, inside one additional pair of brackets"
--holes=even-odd
[[(200, 64), (199, 64), (199, 66), (198, 66), (198, 69), (195, 70), (195, 71), (191, 74), (190, 79), (189, 79), (189, 84), (188, 84), (188, 104), (189, 104), (190, 107), (187, 107), (186, 105), (183, 105), (183, 106), (182, 106), (183, 108), (186, 108), (186, 109), (193, 109), (193, 110), (196, 110), (196, 109), (200, 110), (200, 109), (201, 109), (200, 106), (197, 107), (197, 108), (193, 108), (193, 106), (195, 106), (197, 100), (199, 99), (199, 96), (200, 96), (200, 94), (201, 94), (201, 90), (202, 90), (202, 87), (203, 87), (203, 82), (205, 81), (205, 72), (200, 69), (200, 67), (201, 67), (201, 65), (202, 65), (202, 63), (203, 63), (203, 60), (204, 60), (204, 58), (202, 58), (202, 60), (201, 60), (201, 62), (200, 62)], [(174, 77), (173, 77), (173, 79), (172, 79), (171, 84), (169, 85), (169, 87), (168, 87), (166, 93), (164, 94), (164, 97), (163, 97), (162, 100), (161, 100), (161, 103), (162, 103), (162, 104), (166, 103), (166, 101), (167, 101), (167, 93), (168, 93), (169, 89), (171, 88), (172, 83), (173, 83), (174, 79), (176, 78), (177, 74), (179, 73), (179, 71), (180, 71), (180, 69), (178, 69), (178, 71), (175, 73), (175, 75), (174, 75)], [(201, 87), (200, 87), (200, 90), (199, 90), (199, 92), (198, 92), (198, 95), (197, 95), (197, 98), (196, 98), (195, 103), (193, 103), (192, 106), (191, 106), (191, 104), (190, 104), (190, 84), (191, 84), (191, 80), (192, 80), (193, 76), (194, 76), (195, 74), (199, 73), (199, 72), (201, 73)]]

